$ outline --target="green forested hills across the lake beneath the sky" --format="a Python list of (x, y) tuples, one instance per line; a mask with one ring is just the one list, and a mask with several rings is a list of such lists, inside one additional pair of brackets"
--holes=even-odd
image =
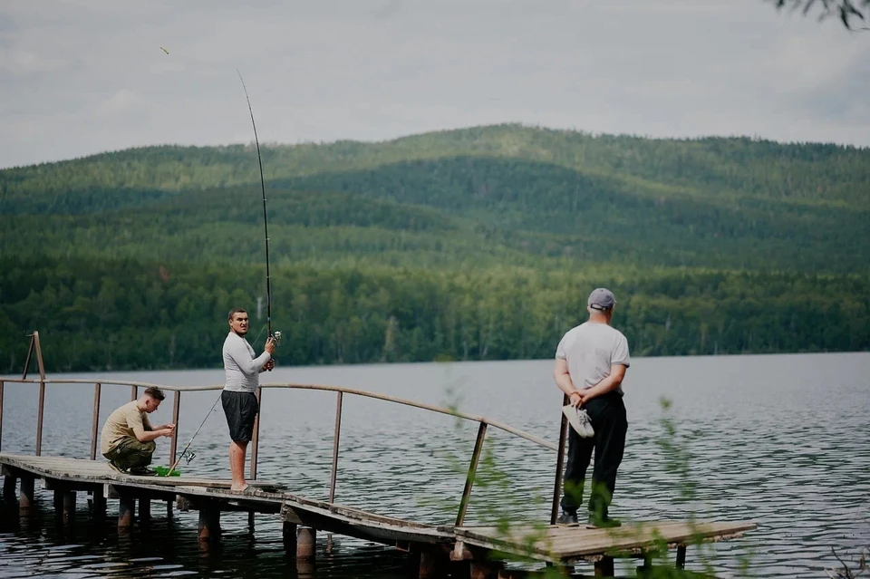
[[(870, 347), (867, 149), (517, 125), (261, 148), (290, 363), (550, 357), (596, 285), (637, 354)], [(0, 171), (0, 372), (32, 329), (56, 369), (219, 364), (226, 310), (264, 296), (262, 209), (253, 146)]]

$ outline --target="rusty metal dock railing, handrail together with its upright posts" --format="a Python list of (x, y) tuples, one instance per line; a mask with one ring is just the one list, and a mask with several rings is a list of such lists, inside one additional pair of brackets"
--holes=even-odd
[[(35, 346), (35, 347), (34, 347)], [(147, 382), (139, 382), (139, 381), (119, 381), (119, 380), (101, 380), (101, 381), (93, 381), (86, 379), (73, 379), (73, 378), (57, 378), (57, 379), (49, 379), (46, 378), (43, 362), (42, 362), (42, 352), (39, 349), (39, 335), (38, 333), (33, 334), (33, 340), (31, 342), (31, 351), (36, 352), (36, 358), (39, 365), (40, 377), (38, 379), (28, 379), (27, 378), (27, 366), (24, 367), (24, 374), (21, 378), (2, 378), (0, 379), (0, 451), (3, 449), (3, 393), (4, 393), (4, 382), (10, 383), (24, 383), (24, 384), (38, 384), (39, 385), (39, 406), (37, 409), (37, 418), (36, 418), (36, 456), (42, 455), (42, 439), (43, 439), (43, 413), (45, 407), (45, 385), (46, 384), (93, 384), (93, 415), (92, 415), (92, 428), (91, 428), (91, 459), (95, 460), (97, 458), (97, 444), (99, 442), (99, 431), (100, 431), (100, 401), (102, 396), (102, 386), (111, 385), (111, 386), (121, 386), (128, 387), (131, 389), (131, 400), (136, 400), (139, 398), (139, 389), (144, 389), (150, 387), (160, 388), (162, 391), (170, 391), (173, 392), (173, 400), (172, 400), (172, 423), (176, 425), (175, 434), (171, 438), (171, 442), (169, 444), (169, 464), (175, 464), (176, 455), (178, 452), (178, 424), (179, 424), (179, 411), (181, 407), (181, 394), (182, 392), (199, 392), (199, 391), (221, 391), (223, 390), (223, 385), (213, 385), (213, 386), (169, 386), (163, 384), (150, 384)], [(27, 361), (29, 364), (30, 361), (30, 352), (28, 353)], [(561, 467), (562, 467), (562, 459), (565, 455), (565, 420), (563, 417), (562, 421), (562, 429), (561, 436), (559, 439), (559, 444), (555, 445), (552, 442), (548, 442), (545, 439), (540, 439), (532, 434), (524, 432), (520, 429), (515, 429), (507, 424), (499, 422), (498, 420), (491, 420), (483, 416), (478, 416), (474, 414), (469, 414), (466, 412), (462, 412), (460, 410), (442, 408), (440, 406), (435, 406), (432, 404), (426, 404), (423, 402), (417, 402), (414, 400), (406, 400), (402, 398), (398, 398), (395, 396), (389, 396), (387, 394), (379, 394), (376, 392), (370, 391), (362, 391), (356, 390), (353, 388), (345, 388), (342, 386), (331, 386), (331, 385), (322, 385), (322, 384), (295, 384), (295, 383), (264, 383), (256, 389), (256, 399), (257, 401), (262, 400), (263, 391), (264, 390), (272, 390), (272, 389), (290, 389), (290, 390), (307, 390), (307, 391), (333, 391), (335, 392), (335, 427), (333, 430), (333, 460), (332, 460), (332, 468), (330, 471), (330, 484), (329, 484), (329, 502), (333, 503), (335, 499), (335, 487), (338, 478), (338, 459), (339, 459), (339, 443), (341, 440), (341, 431), (342, 431), (342, 412), (343, 412), (343, 400), (344, 395), (349, 394), (352, 396), (360, 396), (363, 398), (372, 398), (375, 400), (384, 400), (387, 402), (401, 404), (404, 406), (410, 406), (412, 408), (418, 408), (421, 410), (430, 410), (432, 412), (439, 412), (441, 414), (447, 414), (449, 416), (457, 417), (464, 420), (470, 420), (478, 423), (478, 434), (477, 439), (475, 439), (474, 449), (471, 452), (471, 459), (469, 461), (469, 469), (468, 474), (466, 476), (465, 487), (462, 491), (462, 497), (459, 501), (459, 512), (457, 513), (455, 526), (461, 526), (465, 520), (465, 515), (469, 507), (469, 500), (471, 497), (471, 490), (474, 486), (474, 479), (477, 475), (478, 470), (478, 461), (480, 459), (480, 455), (483, 449), (484, 440), (486, 439), (487, 429), (489, 427), (503, 430), (509, 434), (517, 436), (521, 439), (527, 439), (530, 442), (534, 442), (536, 445), (540, 447), (544, 447), (545, 449), (556, 450), (558, 451), (558, 460), (556, 462), (556, 483), (554, 488), (554, 507), (553, 513), (556, 513), (558, 495), (561, 487)], [(254, 423), (254, 436), (251, 440), (251, 458), (250, 458), (250, 478), (252, 480), (256, 480), (256, 460), (257, 460), (257, 449), (258, 449), (258, 439), (259, 439), (259, 424), (260, 424), (260, 416), (257, 414), (255, 423)], [(552, 514), (551, 514), (552, 515)], [(554, 516), (551, 516), (551, 519)], [(553, 520), (551, 520), (551, 524)]]

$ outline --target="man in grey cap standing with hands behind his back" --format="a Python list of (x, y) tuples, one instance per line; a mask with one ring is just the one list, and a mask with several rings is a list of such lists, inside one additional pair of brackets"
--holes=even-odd
[(577, 508), (583, 504), (586, 468), (595, 451), (589, 497), (589, 525), (611, 527), (621, 523), (608, 516), (616, 486), (616, 470), (623, 460), (628, 420), (623, 404), (622, 382), (629, 367), (628, 341), (611, 327), (616, 299), (599, 287), (586, 301), (589, 320), (572, 328), (556, 348), (554, 378), (573, 406), (586, 410), (594, 436), (581, 437), (568, 429), (568, 461), (560, 525), (577, 524)]

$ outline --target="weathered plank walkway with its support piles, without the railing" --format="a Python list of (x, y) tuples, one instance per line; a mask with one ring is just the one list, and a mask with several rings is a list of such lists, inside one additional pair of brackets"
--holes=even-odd
[[(77, 458), (34, 457), (0, 454), (5, 476), (4, 497), (15, 498), (22, 515), (34, 506), (34, 481), (54, 493), (54, 506), (71, 519), (76, 491), (92, 496), (92, 515), (105, 516), (106, 499), (117, 499), (118, 528), (128, 530), (139, 502), (140, 522), (150, 518), (150, 501), (166, 501), (168, 516), (173, 503), (180, 510), (199, 513), (200, 543), (220, 536), (220, 513), (243, 511), (268, 513), (283, 522), (285, 540), (295, 547), (297, 558), (314, 556), (317, 531), (391, 545), (420, 555), (420, 577), (445, 576), (444, 565), (468, 562), (464, 574), (473, 578), (514, 576), (499, 571), (502, 554), (525, 555), (529, 559), (569, 568), (577, 561), (594, 563), (596, 575), (612, 575), (614, 557), (648, 557), (652, 550), (677, 549), (677, 563), (685, 562), (686, 545), (739, 536), (754, 529), (753, 523), (646, 523), (617, 529), (585, 526), (513, 526), (506, 533), (491, 526), (430, 526), (391, 516), (381, 516), (353, 507), (300, 497), (280, 485), (256, 481), (244, 493), (229, 490), (229, 481), (213, 478), (133, 477), (111, 470), (103, 461)], [(288, 547), (290, 548), (290, 547)], [(495, 555), (495, 556), (494, 556)], [(451, 572), (454, 573), (455, 572)]]

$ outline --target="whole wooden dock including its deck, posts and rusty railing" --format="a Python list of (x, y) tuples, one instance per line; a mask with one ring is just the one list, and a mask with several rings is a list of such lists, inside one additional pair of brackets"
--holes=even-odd
[[(156, 386), (173, 392), (172, 423), (179, 424), (181, 394), (186, 391), (220, 391), (222, 385), (214, 386), (164, 386), (133, 381), (90, 381), (81, 379), (49, 379), (45, 376), (39, 333), (31, 335), (30, 349), (24, 362), (20, 379), (0, 380), (0, 445), (3, 442), (3, 397), (4, 382), (33, 384), (39, 387), (39, 402), (36, 413), (35, 455), (24, 456), (0, 452), (0, 471), (4, 476), (3, 497), (5, 502), (18, 503), (19, 516), (29, 516), (37, 503), (36, 481), (53, 492), (54, 508), (66, 522), (73, 521), (77, 507), (76, 493), (87, 493), (91, 516), (103, 519), (107, 514), (108, 500), (118, 501), (118, 531), (131, 530), (134, 521), (146, 525), (151, 518), (151, 503), (166, 503), (166, 515), (173, 516), (174, 509), (196, 510), (199, 516), (198, 540), (201, 548), (220, 539), (220, 515), (224, 512), (249, 513), (248, 525), (254, 531), (254, 514), (265, 513), (279, 518), (283, 525), (285, 548), (295, 550), (297, 565), (314, 558), (314, 546), (318, 531), (353, 536), (364, 540), (391, 545), (419, 557), (422, 579), (430, 577), (471, 577), (471, 579), (504, 579), (507, 577), (534, 574), (529, 571), (508, 570), (504, 565), (507, 557), (521, 556), (529, 562), (546, 562), (564, 571), (565, 576), (575, 576), (574, 565), (579, 561), (594, 564), (596, 576), (614, 574), (615, 557), (643, 559), (643, 568), (649, 568), (652, 555), (675, 549), (676, 566), (682, 568), (686, 561), (686, 547), (705, 541), (718, 541), (740, 536), (756, 527), (751, 522), (687, 523), (683, 521), (649, 522), (630, 524), (617, 529), (593, 529), (585, 526), (555, 526), (558, 499), (562, 490), (562, 469), (565, 458), (567, 421), (561, 417), (559, 444), (539, 439), (522, 430), (515, 429), (482, 416), (475, 416), (455, 409), (440, 408), (413, 400), (402, 400), (375, 392), (360, 391), (338, 386), (315, 384), (262, 384), (256, 390), (261, 400), (269, 389), (295, 389), (323, 391), (335, 394), (335, 429), (333, 432), (333, 460), (330, 474), (329, 498), (321, 501), (301, 497), (281, 485), (269, 484), (256, 477), (258, 453), (259, 417), (254, 426), (250, 446), (250, 472), (252, 488), (245, 492), (230, 490), (230, 481), (218, 478), (189, 477), (134, 477), (123, 475), (97, 458), (100, 405), (103, 386), (129, 388), (131, 400), (136, 400), (140, 389)], [(38, 379), (28, 379), (27, 369), (32, 355), (39, 368)], [(93, 384), (93, 413), (91, 424), (91, 458), (61, 458), (43, 456), (43, 419), (46, 384)], [(471, 451), (465, 488), (459, 501), (459, 512), (452, 524), (433, 526), (393, 516), (382, 516), (335, 502), (338, 475), (339, 441), (341, 439), (343, 400), (345, 395), (383, 400), (413, 408), (439, 412), (452, 417), (471, 420), (478, 424), (478, 436)], [(262, 402), (261, 402), (262, 403)], [(566, 403), (566, 402), (564, 402)], [(477, 478), (478, 461), (481, 456), (488, 428), (501, 429), (508, 434), (536, 444), (539, 448), (555, 452), (556, 477), (553, 488), (553, 503), (549, 525), (511, 525), (507, 529), (492, 526), (469, 526), (465, 515), (469, 507), (472, 488)], [(169, 463), (176, 464), (178, 438), (173, 437), (169, 446)], [(138, 512), (136, 506), (139, 506)]]

